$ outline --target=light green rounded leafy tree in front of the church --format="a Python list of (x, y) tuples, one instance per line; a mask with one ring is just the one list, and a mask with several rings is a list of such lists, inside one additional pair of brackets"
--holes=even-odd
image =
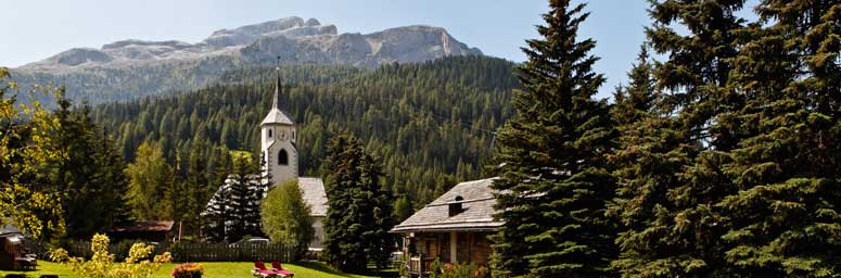
[(283, 182), (269, 190), (260, 203), (263, 232), (273, 242), (295, 247), (296, 257), (301, 257), (315, 238), (309, 210), (297, 180)]

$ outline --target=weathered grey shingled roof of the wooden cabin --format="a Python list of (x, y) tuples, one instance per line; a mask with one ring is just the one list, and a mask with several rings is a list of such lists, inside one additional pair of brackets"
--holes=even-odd
[[(464, 230), (495, 230), (502, 226), (502, 222), (494, 220), (494, 191), (490, 184), (496, 178), (466, 181), (456, 185), (412, 214), (408, 219), (392, 229), (392, 232), (415, 231), (464, 231)], [(461, 197), (462, 210), (460, 213), (449, 216), (449, 204)]]

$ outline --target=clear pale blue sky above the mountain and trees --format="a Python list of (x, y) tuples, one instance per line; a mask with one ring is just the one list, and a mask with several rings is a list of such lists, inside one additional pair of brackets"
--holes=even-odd
[[(582, 2), (585, 0), (574, 0)], [(581, 37), (597, 40), (602, 94), (626, 80), (645, 36), (645, 0), (590, 0)], [(315, 17), (339, 33), (373, 33), (424, 24), (446, 28), (485, 54), (522, 62), (525, 39), (548, 10), (546, 0), (0, 0), (0, 66), (20, 66), (61, 51), (124, 39), (197, 42), (214, 30), (286, 16)], [(606, 96), (607, 97), (607, 96)]]

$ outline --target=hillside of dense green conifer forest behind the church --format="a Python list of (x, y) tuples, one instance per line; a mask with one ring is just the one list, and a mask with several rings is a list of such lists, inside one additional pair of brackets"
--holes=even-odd
[[(481, 177), (494, 130), (513, 113), (511, 89), (518, 83), (512, 68), (510, 62), (483, 56), (377, 70), (283, 67), (280, 105), (297, 124), (301, 175), (320, 176), (326, 143), (343, 130), (381, 157), (386, 184), (415, 206), (457, 180)], [(219, 150), (257, 153), (258, 124), (270, 105), (273, 76), (273, 68), (241, 68), (224, 75), (224, 85), (102, 104), (93, 117), (115, 135), (129, 162), (142, 142), (155, 141), (176, 173), (184, 176), (189, 162), (199, 161), (214, 174), (221, 160), (215, 153), (224, 153)], [(218, 187), (213, 181), (218, 176), (209, 180), (208, 188)]]

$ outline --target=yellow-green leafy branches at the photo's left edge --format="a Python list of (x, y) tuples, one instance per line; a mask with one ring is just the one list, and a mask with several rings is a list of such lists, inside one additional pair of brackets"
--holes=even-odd
[[(0, 67), (0, 223), (49, 239), (65, 230), (62, 195), (51, 184), (43, 182), (48, 165), (66, 160), (66, 153), (53, 148), (51, 136), (61, 123), (37, 101), (16, 103), (17, 94), (7, 93), (16, 90), (17, 85), (8, 78), (9, 71)], [(43, 89), (55, 96), (62, 91)]]

